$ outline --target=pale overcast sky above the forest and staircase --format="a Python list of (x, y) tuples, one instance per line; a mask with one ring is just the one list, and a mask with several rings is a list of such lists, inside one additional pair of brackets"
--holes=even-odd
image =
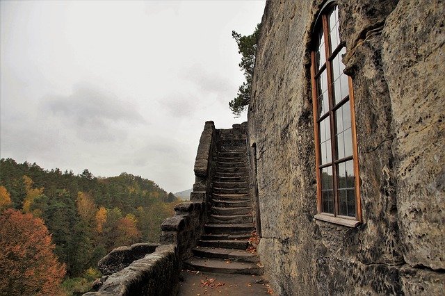
[(264, 1), (1, 1), (0, 156), (191, 188), (206, 120), (243, 74)]

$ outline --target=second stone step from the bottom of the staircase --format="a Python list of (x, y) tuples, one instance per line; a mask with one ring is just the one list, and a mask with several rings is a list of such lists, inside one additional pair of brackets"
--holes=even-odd
[(212, 247), (195, 247), (192, 249), (193, 255), (201, 258), (220, 258), (229, 261), (259, 262), (256, 253), (250, 253), (242, 249), (221, 249)]

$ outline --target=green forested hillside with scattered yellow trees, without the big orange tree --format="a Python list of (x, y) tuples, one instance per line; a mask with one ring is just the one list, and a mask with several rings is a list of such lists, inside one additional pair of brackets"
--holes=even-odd
[(0, 188), (8, 199), (3, 208), (44, 220), (66, 265), (68, 294), (100, 277), (97, 262), (115, 247), (158, 242), (161, 223), (179, 202), (154, 181), (125, 172), (104, 178), (86, 169), (76, 175), (11, 158), (0, 160)]

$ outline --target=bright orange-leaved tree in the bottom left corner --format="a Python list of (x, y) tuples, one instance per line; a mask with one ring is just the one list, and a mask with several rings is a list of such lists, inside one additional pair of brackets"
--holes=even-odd
[(65, 265), (43, 220), (12, 208), (0, 215), (0, 295), (59, 295)]

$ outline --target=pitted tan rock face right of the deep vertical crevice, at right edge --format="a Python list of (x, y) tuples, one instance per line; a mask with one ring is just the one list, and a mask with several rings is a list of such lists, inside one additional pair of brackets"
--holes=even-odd
[(435, 270), (445, 269), (444, 15), (444, 1), (399, 1), (385, 25), (382, 53), (403, 256)]

